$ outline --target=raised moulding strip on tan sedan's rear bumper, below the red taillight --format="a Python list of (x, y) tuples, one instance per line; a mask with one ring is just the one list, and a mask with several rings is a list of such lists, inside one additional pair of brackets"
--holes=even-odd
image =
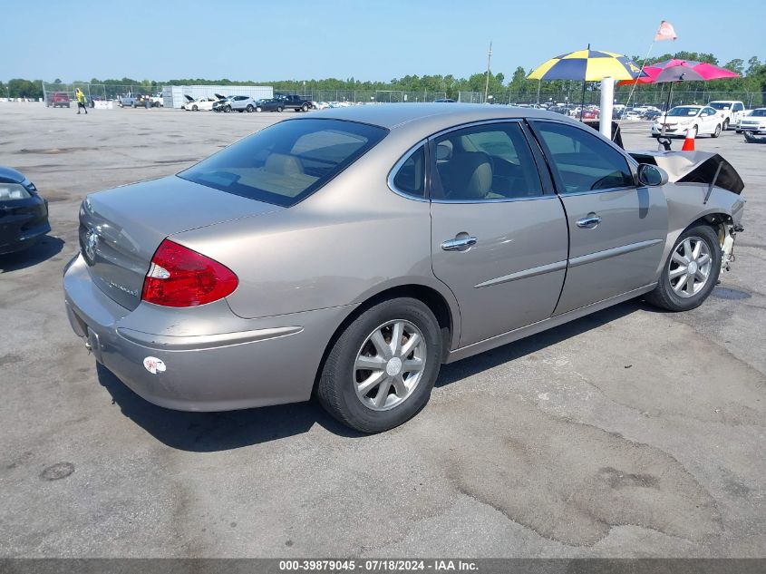
[(221, 333), (218, 335), (168, 336), (151, 335), (150, 333), (118, 327), (117, 334), (136, 345), (160, 349), (162, 351), (189, 351), (266, 341), (267, 339), (296, 335), (301, 331), (303, 331), (302, 326), (281, 326), (269, 329), (256, 329), (254, 331), (239, 331), (237, 333)]

